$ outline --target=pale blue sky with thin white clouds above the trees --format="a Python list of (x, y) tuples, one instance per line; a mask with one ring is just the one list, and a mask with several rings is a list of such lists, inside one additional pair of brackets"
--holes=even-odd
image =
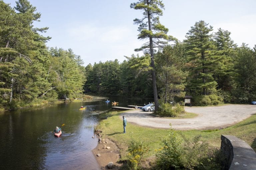
[[(11, 7), (15, 0), (3, 0)], [(16, 0), (17, 1), (17, 0)], [(121, 63), (135, 52), (144, 41), (138, 40), (135, 18), (142, 18), (142, 11), (130, 8), (132, 0), (30, 0), (41, 13), (40, 22), (34, 27), (49, 27), (52, 39), (48, 47), (71, 48), (80, 55), (84, 66), (96, 62), (115, 60)], [(163, 0), (165, 10), (160, 23), (169, 29), (168, 35), (179, 41), (196, 22), (203, 20), (231, 32), (231, 39), (238, 46), (244, 42), (250, 48), (256, 44), (256, 0)]]

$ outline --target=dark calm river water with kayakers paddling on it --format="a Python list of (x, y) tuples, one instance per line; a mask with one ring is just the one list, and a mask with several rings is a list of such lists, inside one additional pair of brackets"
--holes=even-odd
[[(121, 107), (149, 102), (109, 99)], [(91, 152), (98, 141), (94, 126), (108, 116), (111, 102), (63, 103), (0, 113), (0, 169), (99, 170)], [(79, 111), (81, 105), (87, 109)], [(62, 124), (62, 135), (54, 137), (52, 131)]]

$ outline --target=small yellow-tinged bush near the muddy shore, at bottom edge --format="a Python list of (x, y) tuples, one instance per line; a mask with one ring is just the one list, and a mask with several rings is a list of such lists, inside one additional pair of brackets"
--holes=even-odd
[(140, 163), (149, 151), (149, 146), (140, 139), (135, 141), (133, 137), (128, 142), (127, 165), (130, 170), (140, 169)]

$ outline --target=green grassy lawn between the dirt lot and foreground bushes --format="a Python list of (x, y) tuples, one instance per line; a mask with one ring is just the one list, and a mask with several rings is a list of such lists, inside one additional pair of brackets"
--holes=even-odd
[[(112, 114), (112, 115), (111, 115)], [(124, 159), (126, 150), (128, 148), (128, 141), (131, 136), (135, 140), (141, 138), (150, 145), (149, 156), (154, 156), (156, 150), (161, 147), (161, 139), (169, 134), (168, 129), (147, 128), (129, 123), (126, 126), (126, 134), (123, 134), (123, 121), (120, 118), (120, 113), (113, 112), (109, 117), (103, 120), (96, 129), (102, 130), (102, 138), (109, 138), (116, 142), (121, 149), (121, 159)], [(193, 116), (192, 116), (193, 117)], [(256, 114), (250, 118), (235, 124), (225, 129), (214, 130), (177, 130), (178, 133), (183, 134), (187, 138), (192, 138), (195, 135), (202, 135), (202, 140), (210, 143), (210, 145), (220, 148), (221, 134), (233, 135), (246, 141), (254, 150), (256, 150)]]

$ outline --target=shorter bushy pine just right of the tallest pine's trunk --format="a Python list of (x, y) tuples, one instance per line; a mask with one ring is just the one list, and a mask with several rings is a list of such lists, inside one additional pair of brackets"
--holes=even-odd
[(187, 72), (182, 70), (184, 66), (184, 48), (180, 43), (166, 46), (156, 55), (157, 78), (164, 103), (167, 99), (174, 101), (174, 97), (184, 97), (187, 76)]

